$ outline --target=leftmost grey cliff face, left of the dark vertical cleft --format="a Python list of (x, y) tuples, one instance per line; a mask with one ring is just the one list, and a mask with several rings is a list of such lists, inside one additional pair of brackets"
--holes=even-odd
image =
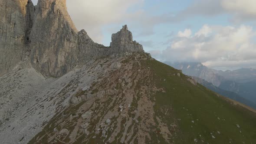
[(0, 76), (24, 59), (33, 10), (31, 0), (0, 0)]

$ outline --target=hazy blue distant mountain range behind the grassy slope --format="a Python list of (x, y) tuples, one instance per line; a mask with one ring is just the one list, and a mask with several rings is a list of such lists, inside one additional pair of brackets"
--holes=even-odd
[(199, 62), (165, 63), (182, 70), (186, 75), (197, 77), (197, 80), (202, 79), (200, 84), (220, 95), (256, 108), (256, 69), (222, 71), (210, 69)]

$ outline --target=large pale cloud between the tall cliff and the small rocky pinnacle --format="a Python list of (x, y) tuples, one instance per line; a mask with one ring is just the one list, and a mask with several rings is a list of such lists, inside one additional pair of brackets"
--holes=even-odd
[(98, 43), (102, 42), (102, 26), (121, 23), (127, 10), (143, 0), (67, 0), (67, 7), (77, 29), (85, 29)]

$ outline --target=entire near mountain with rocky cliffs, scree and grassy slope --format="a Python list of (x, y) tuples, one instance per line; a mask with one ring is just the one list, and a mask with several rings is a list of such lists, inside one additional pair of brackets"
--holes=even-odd
[[(2, 144), (256, 141), (255, 110), (151, 58), (126, 25), (103, 46), (75, 29), (65, 0), (0, 3), (1, 18), (28, 20), (1, 29), (9, 39), (27, 28), (0, 43), (2, 55), (15, 59), (0, 57)], [(17, 22), (8, 20), (0, 25)]]

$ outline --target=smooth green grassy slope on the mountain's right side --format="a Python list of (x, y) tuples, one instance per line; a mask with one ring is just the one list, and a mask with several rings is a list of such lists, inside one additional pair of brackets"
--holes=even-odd
[(175, 144), (256, 142), (255, 113), (230, 104), (202, 85), (192, 85), (186, 75), (174, 75), (179, 71), (171, 66), (156, 60), (147, 60), (144, 66), (155, 73), (157, 87), (166, 91), (155, 95), (154, 110), (175, 133)]

